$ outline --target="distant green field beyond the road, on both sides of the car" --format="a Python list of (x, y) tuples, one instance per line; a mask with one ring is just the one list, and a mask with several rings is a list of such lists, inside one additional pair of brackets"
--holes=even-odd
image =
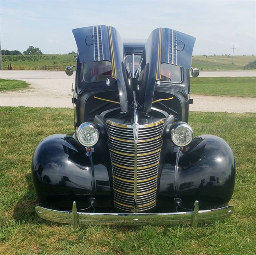
[[(44, 66), (66, 67), (76, 63), (71, 54), (2, 56), (2, 59), (4, 68), (11, 63), (13, 70), (44, 70)], [(192, 66), (199, 70), (244, 70), (244, 66), (253, 60), (256, 60), (256, 56), (234, 56), (234, 64), (232, 64), (232, 57), (228, 56), (210, 56), (209, 58), (193, 56)]]

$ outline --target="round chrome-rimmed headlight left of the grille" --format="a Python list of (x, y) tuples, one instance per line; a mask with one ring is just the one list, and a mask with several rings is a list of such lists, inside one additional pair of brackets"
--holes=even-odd
[(100, 139), (100, 134), (94, 125), (85, 122), (78, 127), (76, 137), (82, 145), (92, 147)]

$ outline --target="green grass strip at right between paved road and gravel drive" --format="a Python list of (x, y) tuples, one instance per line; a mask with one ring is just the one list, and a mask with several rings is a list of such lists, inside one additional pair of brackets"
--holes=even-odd
[(256, 77), (190, 78), (192, 94), (206, 96), (256, 97)]

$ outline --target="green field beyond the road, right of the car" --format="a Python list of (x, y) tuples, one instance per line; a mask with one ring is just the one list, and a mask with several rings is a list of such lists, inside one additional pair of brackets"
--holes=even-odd
[[(256, 56), (193, 56), (192, 67), (199, 70), (244, 70), (244, 66), (256, 60)], [(216, 62), (215, 62), (216, 61)]]

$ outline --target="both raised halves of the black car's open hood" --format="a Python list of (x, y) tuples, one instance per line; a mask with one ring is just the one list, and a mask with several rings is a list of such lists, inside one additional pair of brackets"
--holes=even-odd
[[(124, 44), (111, 26), (90, 26), (72, 30), (80, 63), (110, 61), (111, 77), (116, 79), (122, 112), (133, 106), (131, 73)], [(137, 100), (144, 112), (150, 112), (156, 81), (161, 80), (161, 64), (191, 67), (195, 38), (170, 28), (157, 28), (150, 34), (141, 62), (140, 90)], [(126, 47), (127, 48), (127, 47)]]

